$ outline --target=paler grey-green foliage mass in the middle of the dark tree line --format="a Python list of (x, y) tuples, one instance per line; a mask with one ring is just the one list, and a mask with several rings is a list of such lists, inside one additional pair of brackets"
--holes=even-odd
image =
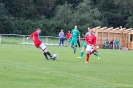
[(71, 30), (74, 25), (78, 25), (81, 33), (86, 32), (87, 27), (103, 25), (101, 13), (97, 8), (91, 8), (90, 0), (80, 3), (75, 10), (68, 3), (58, 6), (54, 21), (57, 22), (58, 28), (66, 31)]

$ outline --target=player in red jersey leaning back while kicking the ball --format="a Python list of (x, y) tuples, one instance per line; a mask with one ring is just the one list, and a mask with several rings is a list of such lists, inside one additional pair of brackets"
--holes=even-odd
[[(49, 60), (48, 56), (50, 57), (50, 59), (53, 59), (53, 56), (50, 54), (50, 52), (46, 49), (46, 46), (44, 45), (44, 43), (42, 43), (42, 41), (40, 40), (40, 36), (39, 34), (41, 33), (41, 29), (37, 28), (35, 32), (33, 32), (30, 35), (30, 38), (33, 39), (34, 45), (41, 49), (44, 53), (44, 56), (47, 60)], [(47, 56), (48, 55), (48, 56)]]

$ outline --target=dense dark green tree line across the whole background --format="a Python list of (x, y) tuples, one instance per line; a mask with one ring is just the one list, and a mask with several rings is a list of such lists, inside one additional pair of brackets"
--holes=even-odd
[(0, 33), (57, 35), (63, 29), (133, 27), (133, 0), (0, 0)]

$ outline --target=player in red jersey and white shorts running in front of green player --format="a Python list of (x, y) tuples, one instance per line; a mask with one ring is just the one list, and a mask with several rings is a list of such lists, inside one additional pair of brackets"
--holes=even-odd
[(89, 34), (85, 36), (85, 42), (87, 44), (86, 48), (86, 62), (89, 62), (90, 55), (94, 51), (94, 46), (96, 46), (96, 36), (93, 34), (93, 29), (89, 30)]

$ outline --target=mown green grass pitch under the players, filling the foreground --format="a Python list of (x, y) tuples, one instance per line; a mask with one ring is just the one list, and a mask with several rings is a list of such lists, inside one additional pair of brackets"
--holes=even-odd
[(77, 59), (70, 47), (47, 46), (45, 60), (32, 45), (0, 44), (0, 88), (133, 88), (133, 52), (100, 49), (101, 60)]

